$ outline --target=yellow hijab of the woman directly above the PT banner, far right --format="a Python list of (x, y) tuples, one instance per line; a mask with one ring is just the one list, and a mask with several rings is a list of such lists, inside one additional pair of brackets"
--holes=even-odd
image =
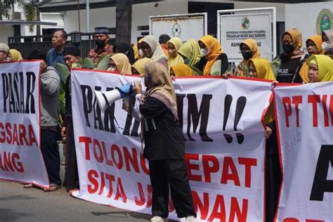
[(327, 55), (311, 55), (308, 62), (315, 60), (318, 67), (318, 81), (333, 81), (333, 60)]

